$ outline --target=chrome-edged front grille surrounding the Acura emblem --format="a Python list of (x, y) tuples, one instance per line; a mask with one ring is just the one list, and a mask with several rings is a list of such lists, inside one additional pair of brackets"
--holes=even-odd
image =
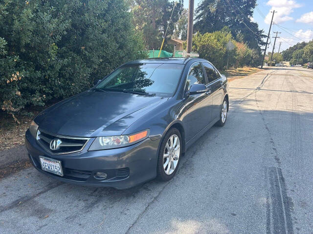
[[(58, 143), (55, 145), (56, 150), (51, 150), (51, 141), (56, 140)], [(89, 138), (81, 137), (66, 137), (57, 136), (38, 130), (37, 141), (38, 143), (51, 154), (69, 154), (81, 151), (87, 144)]]

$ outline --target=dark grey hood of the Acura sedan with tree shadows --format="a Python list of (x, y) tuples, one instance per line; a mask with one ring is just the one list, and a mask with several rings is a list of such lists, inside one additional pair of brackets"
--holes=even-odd
[(40, 130), (51, 134), (116, 136), (165, 99), (120, 92), (87, 91), (47, 108), (34, 121)]

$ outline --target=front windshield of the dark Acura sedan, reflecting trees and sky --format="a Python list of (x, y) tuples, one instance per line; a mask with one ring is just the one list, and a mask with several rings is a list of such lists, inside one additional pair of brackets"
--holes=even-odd
[(96, 88), (169, 97), (177, 88), (183, 67), (183, 64), (173, 63), (125, 64)]

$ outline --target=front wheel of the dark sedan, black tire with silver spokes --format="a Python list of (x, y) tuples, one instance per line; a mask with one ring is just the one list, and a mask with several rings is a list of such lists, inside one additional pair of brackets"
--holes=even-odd
[(182, 149), (182, 139), (178, 129), (170, 129), (163, 138), (160, 146), (156, 175), (159, 180), (172, 179), (179, 167)]

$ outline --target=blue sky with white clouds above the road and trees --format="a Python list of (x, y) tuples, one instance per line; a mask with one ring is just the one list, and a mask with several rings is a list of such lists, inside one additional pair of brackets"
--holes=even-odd
[[(195, 8), (199, 2), (201, 0), (195, 0)], [(184, 7), (188, 8), (188, 0), (184, 0)], [(271, 27), (267, 51), (272, 51), (274, 32), (280, 32), (274, 52), (278, 52), (280, 42), (280, 51), (282, 51), (298, 42), (308, 42), (313, 39), (313, 0), (257, 0), (252, 20), (259, 24), (259, 28), (263, 29), (266, 35), (268, 35), (273, 10), (275, 10), (274, 24)]]

